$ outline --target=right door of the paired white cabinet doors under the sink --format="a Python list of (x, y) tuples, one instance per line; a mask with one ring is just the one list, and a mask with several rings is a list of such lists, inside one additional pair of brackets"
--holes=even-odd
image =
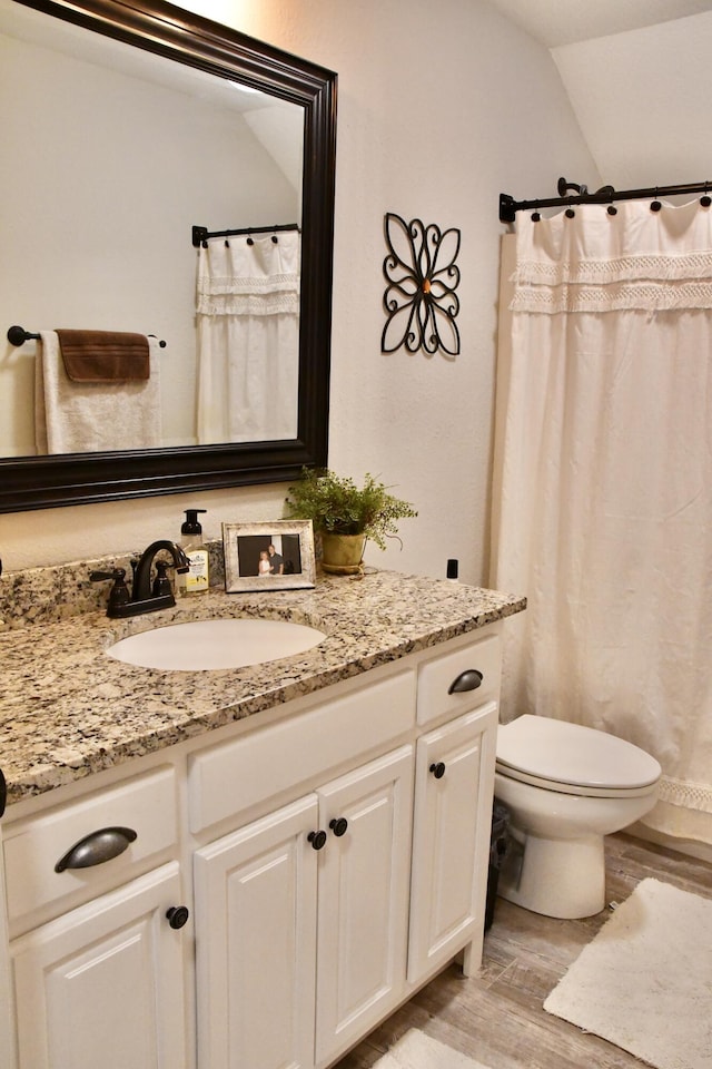
[[(413, 748), (318, 791), (317, 1063), (366, 1034), (403, 998)], [(339, 822), (345, 822), (340, 823)]]

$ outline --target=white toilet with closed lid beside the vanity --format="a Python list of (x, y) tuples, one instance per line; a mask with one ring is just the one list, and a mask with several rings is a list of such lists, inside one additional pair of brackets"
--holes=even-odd
[(654, 757), (605, 732), (526, 713), (497, 733), (495, 798), (511, 842), (497, 893), (546, 916), (605, 905), (603, 836), (655, 805)]

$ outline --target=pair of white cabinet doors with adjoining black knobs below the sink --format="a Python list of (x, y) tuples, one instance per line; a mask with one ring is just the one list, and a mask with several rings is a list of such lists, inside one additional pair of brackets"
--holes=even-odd
[(413, 748), (196, 854), (198, 1063), (327, 1065), (404, 997)]

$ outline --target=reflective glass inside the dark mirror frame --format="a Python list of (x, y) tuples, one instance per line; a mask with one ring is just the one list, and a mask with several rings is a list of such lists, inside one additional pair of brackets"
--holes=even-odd
[[(0, 122), (0, 457), (296, 439), (303, 107), (1, 0)], [(148, 379), (58, 328), (152, 335)]]

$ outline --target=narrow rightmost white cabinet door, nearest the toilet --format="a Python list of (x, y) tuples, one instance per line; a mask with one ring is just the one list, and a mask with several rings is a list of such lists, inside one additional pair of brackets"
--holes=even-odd
[(477, 960), (482, 954), (496, 727), (497, 707), (490, 702), (418, 739), (411, 983), (468, 943)]

